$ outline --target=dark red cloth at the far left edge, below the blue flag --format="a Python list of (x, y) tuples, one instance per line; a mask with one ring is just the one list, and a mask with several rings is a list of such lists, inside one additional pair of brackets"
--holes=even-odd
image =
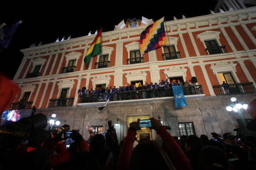
[(19, 90), (19, 86), (0, 73), (0, 114), (9, 109)]

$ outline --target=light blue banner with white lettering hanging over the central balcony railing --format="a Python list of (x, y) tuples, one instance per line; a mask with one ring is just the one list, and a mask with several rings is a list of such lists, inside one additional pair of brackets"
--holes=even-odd
[(173, 89), (173, 95), (175, 99), (175, 106), (176, 107), (188, 106), (182, 91), (182, 86), (172, 86), (172, 89)]

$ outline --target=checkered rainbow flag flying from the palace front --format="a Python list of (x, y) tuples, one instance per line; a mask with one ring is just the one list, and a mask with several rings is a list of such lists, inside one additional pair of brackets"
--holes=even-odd
[(141, 32), (140, 51), (141, 56), (145, 51), (155, 50), (161, 45), (167, 44), (164, 31), (164, 17), (155, 21), (154, 24), (148, 25), (146, 30)]

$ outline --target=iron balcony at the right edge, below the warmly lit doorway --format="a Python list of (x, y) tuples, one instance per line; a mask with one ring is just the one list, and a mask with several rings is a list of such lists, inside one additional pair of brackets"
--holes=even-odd
[(233, 94), (248, 94), (256, 93), (253, 82), (215, 85), (213, 86), (216, 95), (233, 95)]

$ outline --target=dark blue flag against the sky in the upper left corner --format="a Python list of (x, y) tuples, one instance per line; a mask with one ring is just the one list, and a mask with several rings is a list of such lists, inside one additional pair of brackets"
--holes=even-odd
[(4, 27), (0, 30), (1, 31), (0, 46), (7, 49), (11, 41), (11, 38), (13, 37), (14, 32), (17, 30), (19, 24), (20, 22), (16, 22), (15, 24), (8, 27)]

